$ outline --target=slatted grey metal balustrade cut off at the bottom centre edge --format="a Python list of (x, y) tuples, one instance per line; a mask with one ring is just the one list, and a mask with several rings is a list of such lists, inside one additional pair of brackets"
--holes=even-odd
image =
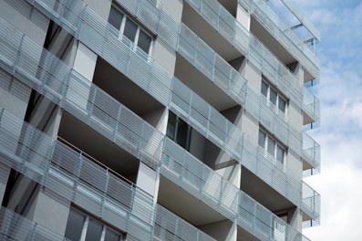
[(157, 240), (215, 240), (159, 204), (156, 206), (153, 236)]

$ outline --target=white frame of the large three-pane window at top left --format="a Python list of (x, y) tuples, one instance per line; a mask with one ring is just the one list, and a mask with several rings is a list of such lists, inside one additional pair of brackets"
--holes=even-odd
[[(129, 19), (129, 21), (131, 21), (133, 24), (135, 24), (137, 26), (137, 30), (136, 30), (136, 34), (135, 34), (133, 41), (131, 41), (128, 37), (126, 37), (126, 39), (131, 43), (131, 47), (132, 47), (133, 51), (139, 52), (139, 49), (140, 49), (142, 51), (141, 53), (145, 54), (149, 58), (151, 56), (152, 50), (153, 50), (154, 37), (149, 33), (149, 31), (147, 31), (142, 26), (140, 26), (140, 24), (138, 24), (136, 21), (134, 21), (132, 19), (132, 17), (128, 16), (124, 11), (122, 11), (122, 9), (118, 5), (112, 4), (110, 6), (110, 9), (112, 9), (112, 7), (122, 15), (119, 29), (116, 26), (113, 26), (109, 22), (109, 18), (108, 18), (109, 25), (113, 26), (114, 28), (116, 28), (118, 30), (119, 40), (124, 41), (124, 37), (126, 37), (124, 35), (124, 30), (125, 30), (127, 20)], [(110, 13), (111, 13), (111, 10), (109, 10), (109, 16), (110, 16)], [(142, 31), (147, 37), (150, 37), (150, 47), (149, 47), (148, 52), (144, 51), (143, 48), (139, 47), (140, 31)]]

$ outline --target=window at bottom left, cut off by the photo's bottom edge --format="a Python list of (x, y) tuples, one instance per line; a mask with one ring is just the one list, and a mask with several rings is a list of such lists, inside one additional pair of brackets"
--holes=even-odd
[(71, 208), (67, 217), (66, 237), (72, 241), (120, 241), (123, 234)]

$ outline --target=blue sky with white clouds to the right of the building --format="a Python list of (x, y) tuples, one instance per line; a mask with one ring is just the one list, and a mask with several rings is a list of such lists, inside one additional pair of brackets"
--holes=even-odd
[(304, 230), (314, 241), (362, 240), (362, 1), (294, 0), (320, 29), (317, 45), (322, 173), (308, 177), (322, 195), (321, 225)]

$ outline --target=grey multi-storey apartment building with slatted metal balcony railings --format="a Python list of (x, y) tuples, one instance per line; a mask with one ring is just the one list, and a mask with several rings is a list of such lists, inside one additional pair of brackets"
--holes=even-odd
[(318, 30), (290, 0), (0, 0), (0, 240), (309, 240)]

